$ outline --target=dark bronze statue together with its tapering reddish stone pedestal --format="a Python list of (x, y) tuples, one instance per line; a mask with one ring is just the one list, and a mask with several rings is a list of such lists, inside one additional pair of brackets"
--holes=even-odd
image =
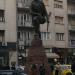
[[(35, 29), (36, 37), (31, 42), (31, 47), (27, 57), (28, 75), (50, 75), (49, 64), (45, 54), (45, 48), (42, 45), (40, 35), (40, 24), (46, 21), (49, 23), (48, 14), (45, 5), (40, 0), (33, 0), (31, 3), (32, 25)], [(39, 38), (37, 37), (39, 35)], [(40, 66), (41, 65), (41, 66)]]

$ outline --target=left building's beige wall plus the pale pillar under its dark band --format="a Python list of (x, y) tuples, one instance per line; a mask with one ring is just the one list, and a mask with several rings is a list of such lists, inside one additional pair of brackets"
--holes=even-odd
[[(16, 0), (0, 0), (0, 9), (4, 10), (5, 22), (0, 22), (0, 30), (5, 31), (5, 42), (17, 41)], [(9, 50), (9, 64), (17, 63), (17, 51)]]

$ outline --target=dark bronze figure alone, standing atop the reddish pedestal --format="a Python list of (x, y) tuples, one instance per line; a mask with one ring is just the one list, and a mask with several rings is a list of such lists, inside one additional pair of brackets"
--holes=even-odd
[(31, 16), (32, 25), (34, 26), (35, 33), (40, 35), (40, 24), (44, 24), (46, 21), (49, 23), (48, 14), (45, 5), (40, 0), (33, 0), (31, 3)]

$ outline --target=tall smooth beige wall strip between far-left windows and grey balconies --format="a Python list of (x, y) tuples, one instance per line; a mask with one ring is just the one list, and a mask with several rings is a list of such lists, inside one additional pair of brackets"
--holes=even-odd
[(5, 41), (16, 42), (16, 0), (5, 0)]

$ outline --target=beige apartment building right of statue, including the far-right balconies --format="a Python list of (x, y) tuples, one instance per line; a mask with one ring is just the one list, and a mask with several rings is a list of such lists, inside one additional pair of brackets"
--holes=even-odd
[(45, 0), (48, 13), (51, 12), (49, 32), (46, 25), (41, 27), (43, 40), (47, 52), (60, 55), (61, 62), (72, 62), (75, 58), (75, 1), (74, 0)]

